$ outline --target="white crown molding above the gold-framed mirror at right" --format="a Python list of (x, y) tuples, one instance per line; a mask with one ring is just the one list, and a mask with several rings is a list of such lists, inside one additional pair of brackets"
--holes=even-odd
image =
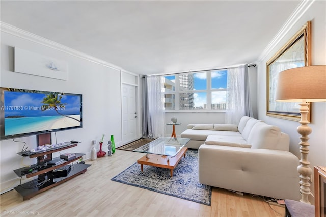
[(258, 62), (262, 62), (268, 54), (273, 50), (277, 44), (285, 37), (285, 35), (292, 29), (295, 23), (303, 16), (303, 14), (310, 8), (315, 0), (303, 0), (293, 11), (291, 16), (283, 24), (279, 32), (274, 36), (273, 40), (269, 42), (267, 47), (258, 58)]

